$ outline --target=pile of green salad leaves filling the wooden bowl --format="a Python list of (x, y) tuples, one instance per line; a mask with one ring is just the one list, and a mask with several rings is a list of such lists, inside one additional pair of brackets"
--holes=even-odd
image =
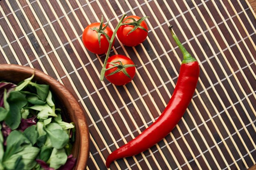
[(74, 123), (62, 120), (49, 85), (31, 82), (33, 77), (13, 84), (14, 90), (1, 89), (0, 170), (58, 169), (71, 154)]

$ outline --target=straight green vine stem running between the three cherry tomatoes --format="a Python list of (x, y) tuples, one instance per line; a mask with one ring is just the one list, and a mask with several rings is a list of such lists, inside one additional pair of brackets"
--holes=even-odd
[(107, 61), (108, 61), (108, 58), (109, 58), (109, 54), (110, 54), (110, 50), (112, 48), (112, 44), (113, 44), (113, 41), (115, 39), (115, 35), (117, 33), (117, 30), (120, 26), (122, 25), (125, 25), (123, 24), (123, 20), (124, 20), (124, 17), (126, 17), (126, 14), (124, 14), (122, 17), (121, 17), (121, 20), (118, 22), (117, 24), (117, 27), (115, 28), (115, 31), (113, 32), (113, 35), (109, 41), (109, 46), (108, 46), (108, 52), (106, 54), (106, 58), (105, 58), (105, 61), (104, 61), (104, 64), (103, 64), (103, 68), (101, 69), (101, 76), (100, 76), (100, 81), (103, 81), (103, 78), (104, 78), (104, 75), (105, 75), (105, 72), (106, 72), (106, 65), (107, 65)]

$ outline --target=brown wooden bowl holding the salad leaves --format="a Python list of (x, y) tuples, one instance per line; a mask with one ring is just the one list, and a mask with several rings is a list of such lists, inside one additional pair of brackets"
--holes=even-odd
[(29, 78), (33, 73), (35, 73), (33, 82), (36, 81), (39, 84), (50, 86), (56, 106), (61, 108), (63, 120), (74, 122), (76, 136), (72, 155), (77, 159), (74, 169), (84, 170), (89, 156), (89, 130), (85, 120), (85, 113), (74, 96), (54, 78), (36, 69), (14, 64), (0, 65), (0, 81), (19, 83)]

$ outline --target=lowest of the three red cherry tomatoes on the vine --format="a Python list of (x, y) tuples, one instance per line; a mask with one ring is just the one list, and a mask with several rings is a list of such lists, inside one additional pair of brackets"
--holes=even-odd
[[(120, 66), (120, 62), (117, 61), (121, 61), (122, 66)], [(118, 64), (119, 66), (111, 68), (114, 66), (111, 63)], [(133, 61), (124, 55), (117, 54), (113, 55), (112, 57), (109, 57), (106, 65), (106, 69), (108, 68), (111, 69), (106, 71), (105, 77), (114, 85), (126, 85), (127, 83), (132, 81), (132, 78), (135, 76), (135, 65)], [(120, 72), (109, 75), (112, 72), (115, 72), (117, 69), (120, 69)], [(121, 69), (125, 69), (126, 72), (129, 74), (130, 78), (126, 76), (126, 74), (124, 74), (124, 72), (121, 71)]]

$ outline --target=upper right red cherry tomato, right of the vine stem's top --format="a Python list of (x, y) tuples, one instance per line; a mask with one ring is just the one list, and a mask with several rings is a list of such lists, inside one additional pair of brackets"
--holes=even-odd
[[(133, 22), (133, 20), (131, 20), (131, 19), (125, 21), (127, 18), (134, 18), (136, 21), (138, 21), (141, 17), (134, 16), (134, 15), (128, 16), (128, 17), (124, 18), (123, 23)], [(140, 26), (142, 26), (143, 28), (145, 28), (148, 31), (148, 26), (145, 21), (142, 21)], [(121, 41), (122, 44), (124, 44), (126, 46), (130, 46), (130, 47), (137, 46), (146, 39), (146, 37), (148, 36), (148, 32), (144, 31), (141, 28), (137, 28), (135, 31), (128, 34), (134, 27), (135, 26), (133, 26), (133, 25), (123, 25), (123, 26), (119, 27), (119, 29), (117, 30), (117, 37)]]

